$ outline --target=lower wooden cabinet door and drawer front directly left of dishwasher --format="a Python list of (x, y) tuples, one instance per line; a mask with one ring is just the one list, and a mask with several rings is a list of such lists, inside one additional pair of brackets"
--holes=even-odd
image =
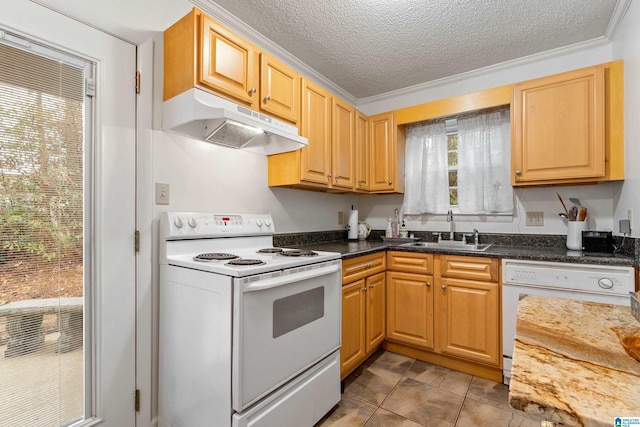
[(498, 260), (441, 256), (440, 351), (500, 365)]

